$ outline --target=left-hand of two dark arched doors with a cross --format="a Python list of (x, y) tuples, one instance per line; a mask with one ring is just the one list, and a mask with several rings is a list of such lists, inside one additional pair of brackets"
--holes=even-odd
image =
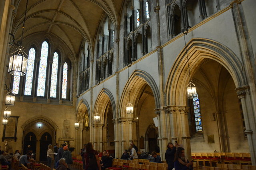
[(28, 145), (31, 146), (29, 150), (32, 150), (32, 153), (36, 153), (36, 135), (33, 132), (28, 132), (24, 138), (23, 154), (27, 154)]

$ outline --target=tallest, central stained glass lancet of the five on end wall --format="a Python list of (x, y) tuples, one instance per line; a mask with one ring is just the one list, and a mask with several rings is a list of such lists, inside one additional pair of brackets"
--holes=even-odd
[(41, 49), (39, 73), (38, 73), (37, 96), (44, 97), (48, 49), (49, 49), (48, 43), (46, 41), (43, 42), (42, 49)]

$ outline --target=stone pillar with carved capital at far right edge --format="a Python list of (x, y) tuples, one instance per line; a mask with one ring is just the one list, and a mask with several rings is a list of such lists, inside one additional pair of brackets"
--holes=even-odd
[(236, 88), (236, 93), (238, 98), (241, 100), (242, 109), (244, 113), (244, 123), (245, 123), (245, 134), (247, 136), (248, 145), (250, 149), (250, 155), (252, 160), (252, 165), (256, 165), (256, 121), (255, 121), (255, 113), (253, 110), (253, 105), (251, 99), (251, 91), (249, 86)]

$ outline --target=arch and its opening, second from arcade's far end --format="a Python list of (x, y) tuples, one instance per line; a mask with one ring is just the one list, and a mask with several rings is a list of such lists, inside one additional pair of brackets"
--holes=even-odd
[[(110, 142), (114, 142), (114, 126), (115, 123), (112, 121), (116, 115), (116, 104), (112, 93), (103, 88), (95, 101), (94, 112), (91, 117), (93, 124), (92, 141), (94, 142), (94, 148), (97, 150), (110, 150), (114, 153), (114, 145)], [(94, 115), (98, 113), (100, 115), (100, 122), (94, 122)], [(112, 140), (109, 140), (109, 136), (112, 136)]]

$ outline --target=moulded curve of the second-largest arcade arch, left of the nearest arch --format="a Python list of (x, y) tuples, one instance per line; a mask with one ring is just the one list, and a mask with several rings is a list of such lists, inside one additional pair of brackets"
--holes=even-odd
[[(155, 102), (155, 108), (158, 109), (160, 108), (160, 101), (159, 101), (159, 90), (156, 85), (156, 82), (154, 81), (153, 77), (145, 71), (142, 70), (134, 70), (132, 75), (129, 77), (130, 81), (130, 102), (134, 105), (136, 103), (138, 94), (141, 93), (141, 89), (143, 89), (145, 84), (148, 84), (150, 88), (152, 89), (153, 95), (154, 95), (154, 102)], [(120, 117), (126, 117), (126, 105), (128, 103), (128, 85), (129, 83), (127, 82), (124, 90), (122, 92), (122, 96), (120, 99)], [(136, 108), (134, 108), (136, 109)]]

